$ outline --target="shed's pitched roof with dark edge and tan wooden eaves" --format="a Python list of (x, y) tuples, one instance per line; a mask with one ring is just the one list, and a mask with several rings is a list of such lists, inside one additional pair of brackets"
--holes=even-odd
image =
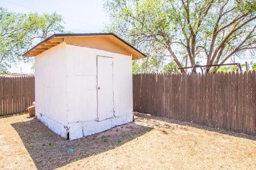
[[(74, 38), (76, 38), (76, 37), (87, 38), (88, 39), (87, 41), (92, 41), (92, 39), (91, 39), (92, 37), (97, 37), (97, 38), (101, 37), (103, 39), (108, 39), (108, 41), (115, 44), (114, 47), (110, 46), (110, 47), (106, 47), (106, 49), (104, 49), (104, 48), (102, 49), (102, 45), (100, 46), (99, 43), (98, 44), (94, 43), (93, 45), (87, 45), (88, 43), (85, 43), (85, 45), (84, 45), (84, 43), (81, 43), (81, 40), (80, 40), (80, 41), (78, 41), (78, 43), (75, 42), (75, 44), (79, 45), (79, 46), (89, 46), (92, 48), (99, 48), (100, 50), (106, 50), (106, 51), (110, 51), (110, 52), (115, 52), (115, 51), (113, 51), (113, 49), (110, 49), (110, 48), (116, 48), (116, 46), (117, 46), (118, 48), (122, 49), (122, 50), (118, 50), (117, 53), (122, 53), (122, 51), (123, 51), (123, 54), (132, 55), (132, 59), (141, 59), (141, 58), (147, 57), (145, 54), (143, 54), (142, 52), (137, 50), (137, 48), (135, 48), (132, 45), (130, 45), (129, 43), (125, 42), (122, 38), (118, 37), (117, 35), (115, 35), (113, 33), (54, 34), (54, 35), (50, 36), (49, 38), (45, 39), (44, 41), (42, 41), (41, 43), (38, 43), (36, 46), (31, 48), (28, 52), (23, 54), (23, 56), (36, 56), (36, 55), (41, 54), (44, 51), (47, 51), (50, 48), (52, 48), (60, 43), (63, 43), (63, 42), (67, 42), (67, 44), (72, 44), (70, 42), (73, 42), (75, 40)], [(85, 41), (85, 40), (86, 39), (82, 39), (82, 41)]]

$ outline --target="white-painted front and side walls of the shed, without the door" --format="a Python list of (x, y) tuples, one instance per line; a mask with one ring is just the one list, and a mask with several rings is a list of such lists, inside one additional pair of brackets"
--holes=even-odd
[[(114, 63), (115, 117), (101, 122), (95, 121), (97, 55)], [(62, 43), (35, 57), (35, 89), (38, 119), (62, 137), (69, 131), (77, 139), (132, 122), (131, 56)]]

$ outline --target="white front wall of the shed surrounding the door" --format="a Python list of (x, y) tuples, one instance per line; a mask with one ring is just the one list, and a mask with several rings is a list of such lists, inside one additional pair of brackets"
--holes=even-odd
[[(116, 119), (110, 128), (121, 122), (132, 121), (132, 57), (97, 50), (94, 48), (67, 45), (67, 107), (69, 137), (82, 137), (83, 127), (95, 124), (97, 118), (97, 55), (113, 57), (114, 110), (115, 116), (129, 119)], [(118, 123), (118, 121), (121, 121)], [(105, 126), (106, 129), (107, 126)], [(75, 130), (73, 130), (75, 129)], [(106, 130), (105, 129), (105, 130)], [(91, 134), (98, 130), (90, 131)], [(84, 134), (85, 135), (85, 134)], [(75, 137), (76, 136), (76, 137)]]

